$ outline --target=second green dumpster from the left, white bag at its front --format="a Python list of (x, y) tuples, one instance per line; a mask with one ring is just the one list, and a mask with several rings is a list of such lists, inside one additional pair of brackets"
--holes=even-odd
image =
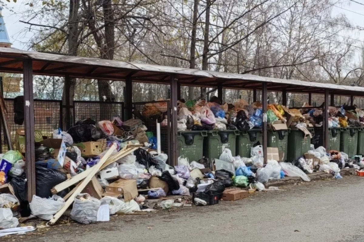
[(207, 137), (203, 140), (203, 156), (210, 160), (219, 159), (222, 151), (230, 149), (233, 156), (236, 156), (236, 137), (239, 130), (207, 131)]

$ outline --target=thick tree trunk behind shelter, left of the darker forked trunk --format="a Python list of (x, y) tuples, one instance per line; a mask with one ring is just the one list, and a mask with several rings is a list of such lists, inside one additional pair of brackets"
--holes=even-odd
[[(78, 10), (80, 8), (80, 0), (70, 0), (70, 14), (68, 16), (68, 55), (77, 56), (78, 50)], [(76, 78), (70, 79), (70, 89), (63, 88), (62, 105), (66, 105), (66, 91), (70, 93), (70, 105), (73, 106), (73, 100), (75, 97)], [(63, 112), (63, 127), (66, 127), (66, 109), (61, 110)], [(71, 120), (70, 120), (71, 121)]]

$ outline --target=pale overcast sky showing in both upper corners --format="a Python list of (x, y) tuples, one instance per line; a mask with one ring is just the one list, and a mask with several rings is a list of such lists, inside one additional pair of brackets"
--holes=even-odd
[[(364, 0), (356, 1), (364, 4)], [(4, 9), (3, 16), (10, 40), (13, 43), (12, 47), (25, 50), (27, 49), (27, 46), (23, 44), (23, 42), (26, 43), (27, 40), (31, 38), (32, 34), (30, 32), (24, 33), (23, 30), (27, 27), (27, 25), (20, 23), (19, 20), (21, 20), (21, 14), (16, 14), (24, 11), (24, 5), (22, 4), (22, 2), (23, 0), (17, 0), (16, 3), (13, 3), (13, 1), (11, 0), (11, 3), (8, 3), (8, 8), (12, 8), (13, 12), (9, 11), (9, 9)], [(347, 18), (352, 22), (352, 24), (364, 28), (364, 5), (350, 1), (349, 3), (350, 4), (338, 5), (341, 8), (334, 6), (333, 14), (345, 14)], [(342, 8), (345, 8), (347, 10)], [(345, 35), (345, 33), (343, 33), (342, 35)], [(359, 38), (360, 40), (364, 41), (364, 31), (361, 31)], [(361, 43), (358, 43), (357, 46), (361, 46)]]

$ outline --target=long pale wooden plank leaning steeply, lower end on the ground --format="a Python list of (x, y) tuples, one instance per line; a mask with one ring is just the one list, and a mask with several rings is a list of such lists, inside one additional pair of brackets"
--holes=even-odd
[(91, 181), (92, 177), (99, 171), (102, 165), (106, 162), (106, 160), (111, 156), (112, 152), (116, 149), (115, 145), (112, 145), (110, 149), (106, 152), (106, 154), (102, 157), (102, 159), (95, 165), (95, 169), (92, 169), (87, 177), (82, 181), (81, 184), (77, 187), (74, 193), (70, 196), (70, 198), (66, 201), (63, 207), (53, 216), (53, 218), (49, 221), (50, 225), (54, 225), (55, 222), (64, 214), (68, 207), (74, 202), (75, 196), (78, 195), (82, 190), (87, 186), (87, 184)]

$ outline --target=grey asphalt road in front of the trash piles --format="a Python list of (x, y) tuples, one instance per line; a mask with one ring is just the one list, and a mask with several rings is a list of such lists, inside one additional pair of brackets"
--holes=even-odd
[[(114, 216), (1, 238), (27, 242), (360, 242), (364, 241), (364, 179), (350, 176), (281, 187), (234, 203)], [(67, 224), (68, 223), (68, 224)]]

